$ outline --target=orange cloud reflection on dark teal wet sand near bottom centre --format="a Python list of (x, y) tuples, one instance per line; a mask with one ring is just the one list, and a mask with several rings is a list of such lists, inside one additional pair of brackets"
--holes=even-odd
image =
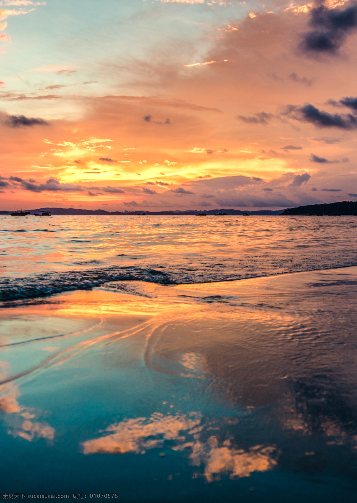
[(245, 451), (231, 445), (229, 439), (221, 445), (216, 436), (205, 440), (208, 429), (201, 425), (202, 415), (192, 412), (190, 416), (154, 412), (149, 418), (124, 420), (105, 430), (114, 433), (84, 442), (83, 453), (145, 454), (148, 449), (167, 448), (165, 440), (174, 441), (169, 445), (172, 450), (190, 449), (191, 464), (204, 464), (208, 482), (219, 478), (221, 473), (230, 473), (230, 478), (249, 477), (254, 471), (272, 470), (278, 464), (280, 451), (275, 446), (256, 445)]

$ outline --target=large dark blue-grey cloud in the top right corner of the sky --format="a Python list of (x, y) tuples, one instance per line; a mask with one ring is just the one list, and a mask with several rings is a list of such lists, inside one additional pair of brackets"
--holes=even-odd
[(299, 49), (306, 54), (336, 54), (346, 35), (357, 27), (357, 6), (329, 10), (324, 5), (312, 9), (309, 25)]

